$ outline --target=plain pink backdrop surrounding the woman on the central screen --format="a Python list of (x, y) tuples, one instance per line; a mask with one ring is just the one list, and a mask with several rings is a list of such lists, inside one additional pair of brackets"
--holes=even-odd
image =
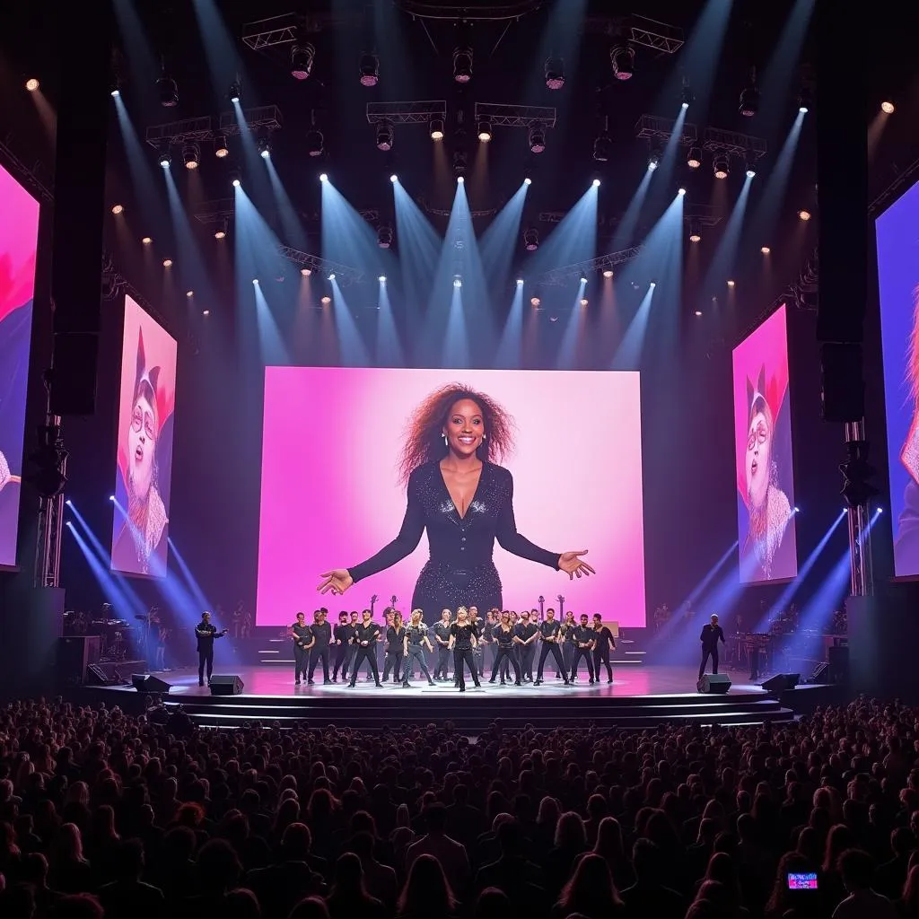
[[(431, 393), (452, 383), (491, 397), (514, 421), (514, 449), (500, 464), (507, 472), (483, 468), (483, 493), (476, 491), (467, 514), (488, 517), (504, 500), (513, 508), (517, 532), (536, 544), (531, 557), (540, 550), (588, 550), (584, 562), (596, 569), (595, 576), (570, 581), (547, 563), (518, 557), (495, 542), (504, 607), (539, 607), (542, 595), (546, 607), (558, 608), (562, 594), (566, 609), (644, 626), (638, 373), (306, 367), (266, 369), (258, 625), (289, 624), (300, 609), (309, 615), (320, 606), (333, 614), (369, 607), (374, 594), (378, 609), (389, 606), (393, 595), (398, 608), (411, 608), (429, 557), (427, 524), (411, 554), (359, 580), (345, 596), (321, 596), (316, 587), (320, 573), (364, 562), (400, 532), (406, 488), (397, 463), (411, 421)], [(439, 433), (433, 442), (437, 450)], [(425, 472), (419, 499), (425, 519), (437, 518), (448, 538), (445, 520), (465, 532), (466, 518), (450, 502), (437, 463), (419, 474)], [(465, 592), (468, 585), (464, 602), (481, 606), (476, 592), (482, 585), (474, 573), (470, 577), (459, 589)], [(425, 619), (432, 622), (439, 612), (425, 608)]]

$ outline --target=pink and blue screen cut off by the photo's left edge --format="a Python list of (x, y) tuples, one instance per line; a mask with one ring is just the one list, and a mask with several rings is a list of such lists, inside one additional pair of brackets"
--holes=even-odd
[(16, 564), (39, 203), (0, 166), (0, 566)]

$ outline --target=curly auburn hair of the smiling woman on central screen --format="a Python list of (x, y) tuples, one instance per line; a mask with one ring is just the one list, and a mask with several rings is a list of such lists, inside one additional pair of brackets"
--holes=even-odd
[(514, 418), (505, 407), (484, 392), (462, 383), (448, 383), (428, 395), (415, 410), (407, 427), (407, 436), (399, 458), (399, 480), (407, 484), (409, 476), (426, 462), (439, 462), (447, 456), (442, 437), (450, 409), (461, 399), (479, 406), (487, 437), (477, 450), (482, 462), (500, 462), (514, 450)]

